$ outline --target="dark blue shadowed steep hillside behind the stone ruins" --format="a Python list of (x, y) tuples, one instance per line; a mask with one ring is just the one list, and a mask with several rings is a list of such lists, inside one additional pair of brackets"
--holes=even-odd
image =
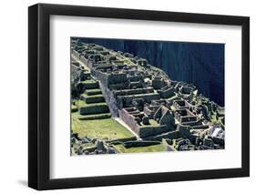
[(205, 97), (224, 106), (224, 44), (82, 38), (148, 59), (174, 80), (192, 83)]

